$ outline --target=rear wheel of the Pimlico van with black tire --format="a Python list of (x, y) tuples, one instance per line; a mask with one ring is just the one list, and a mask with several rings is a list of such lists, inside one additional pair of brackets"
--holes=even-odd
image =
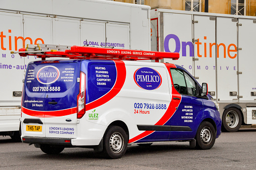
[(127, 149), (127, 134), (120, 126), (110, 126), (103, 137), (103, 151), (107, 158), (117, 159), (124, 155)]

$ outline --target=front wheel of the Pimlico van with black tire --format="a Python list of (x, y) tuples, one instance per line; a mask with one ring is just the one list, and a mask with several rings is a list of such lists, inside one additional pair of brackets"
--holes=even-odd
[(216, 132), (213, 125), (208, 122), (202, 122), (196, 134), (196, 148), (197, 149), (210, 149), (215, 143)]

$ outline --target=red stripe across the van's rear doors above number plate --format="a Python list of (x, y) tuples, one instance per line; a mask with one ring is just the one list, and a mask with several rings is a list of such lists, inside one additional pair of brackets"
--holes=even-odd
[(76, 107), (64, 109), (64, 110), (56, 110), (56, 111), (38, 111), (38, 110), (30, 110), (22, 106), (21, 111), (27, 115), (35, 116), (35, 117), (58, 117), (58, 116), (66, 116), (69, 114), (74, 114), (77, 112)]

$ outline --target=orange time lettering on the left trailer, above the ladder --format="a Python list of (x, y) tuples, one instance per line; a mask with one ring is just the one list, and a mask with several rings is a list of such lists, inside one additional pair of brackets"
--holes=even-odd
[[(12, 33), (12, 30), (8, 30), (9, 33)], [(4, 47), (4, 42), (7, 41), (6, 40), (7, 36), (4, 35), (4, 32), (2, 31), (0, 33), (0, 42), (1, 42), (1, 49), (2, 50), (6, 50), (6, 48)], [(9, 38), (9, 50), (12, 50), (12, 36), (8, 36)], [(14, 37), (14, 44), (15, 44), (15, 51), (18, 50), (18, 40), (22, 40), (22, 45), (23, 45), (23, 48), (25, 48), (25, 42), (28, 42), (30, 44), (33, 44), (33, 40), (30, 38), (30, 37)], [(37, 38), (35, 41), (34, 41), (34, 44), (37, 44), (38, 41), (41, 41), (42, 44), (44, 44), (44, 40), (41, 39), (41, 38)]]

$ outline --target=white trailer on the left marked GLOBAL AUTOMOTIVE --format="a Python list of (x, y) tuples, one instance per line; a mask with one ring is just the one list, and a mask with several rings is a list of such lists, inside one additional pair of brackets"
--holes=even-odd
[(150, 7), (91, 0), (0, 1), (0, 135), (20, 140), (25, 44), (150, 50)]

